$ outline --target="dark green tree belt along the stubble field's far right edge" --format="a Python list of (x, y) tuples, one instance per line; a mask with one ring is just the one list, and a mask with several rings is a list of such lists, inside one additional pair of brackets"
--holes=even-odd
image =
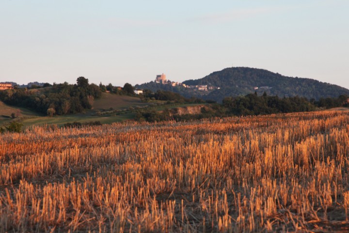
[(163, 121), (163, 120), (192, 120), (208, 117), (222, 116), (250, 116), (266, 115), (277, 113), (309, 112), (318, 109), (335, 107), (349, 107), (349, 96), (341, 95), (338, 98), (321, 98), (320, 100), (307, 100), (303, 97), (268, 96), (264, 93), (258, 96), (257, 93), (241, 97), (224, 98), (222, 104), (210, 104), (201, 108), (200, 114), (176, 115), (171, 110), (157, 112), (154, 110), (141, 110), (136, 113), (136, 120), (139, 121)]

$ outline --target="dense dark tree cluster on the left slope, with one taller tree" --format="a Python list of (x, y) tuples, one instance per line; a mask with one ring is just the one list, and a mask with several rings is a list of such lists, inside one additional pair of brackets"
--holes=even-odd
[(0, 92), (0, 100), (15, 106), (31, 108), (48, 116), (80, 113), (91, 109), (95, 99), (101, 96), (96, 84), (79, 77), (77, 84), (53, 84), (44, 89), (13, 89)]

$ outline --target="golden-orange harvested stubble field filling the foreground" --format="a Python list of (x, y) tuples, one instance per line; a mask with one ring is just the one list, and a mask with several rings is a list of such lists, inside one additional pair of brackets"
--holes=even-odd
[(349, 112), (0, 137), (0, 232), (348, 232)]

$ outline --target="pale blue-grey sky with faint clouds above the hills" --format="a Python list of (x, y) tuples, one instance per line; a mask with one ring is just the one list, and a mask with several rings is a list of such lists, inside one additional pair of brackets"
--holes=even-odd
[(0, 82), (254, 67), (349, 88), (348, 0), (0, 0)]

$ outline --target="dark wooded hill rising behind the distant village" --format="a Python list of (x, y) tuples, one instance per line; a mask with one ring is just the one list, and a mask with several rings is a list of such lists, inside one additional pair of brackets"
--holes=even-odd
[[(272, 96), (299, 96), (308, 100), (349, 95), (348, 89), (338, 85), (322, 83), (313, 79), (287, 77), (265, 69), (249, 67), (225, 68), (221, 71), (213, 72), (202, 79), (188, 80), (183, 83), (191, 86), (210, 85), (220, 87), (220, 89), (197, 91), (183, 86), (171, 86), (154, 82), (136, 85), (136, 88), (150, 89), (152, 91), (168, 90), (185, 97), (194, 96), (204, 100), (216, 100), (219, 102), (225, 97), (244, 96), (255, 91), (259, 95), (266, 92)], [(255, 89), (256, 87), (258, 89)]]

